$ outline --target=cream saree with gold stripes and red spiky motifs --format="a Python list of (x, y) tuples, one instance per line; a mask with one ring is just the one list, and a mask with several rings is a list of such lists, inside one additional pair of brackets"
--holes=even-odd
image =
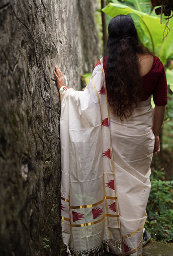
[(61, 219), (69, 255), (142, 255), (154, 147), (150, 98), (121, 121), (109, 111), (103, 63), (84, 91), (61, 87)]

